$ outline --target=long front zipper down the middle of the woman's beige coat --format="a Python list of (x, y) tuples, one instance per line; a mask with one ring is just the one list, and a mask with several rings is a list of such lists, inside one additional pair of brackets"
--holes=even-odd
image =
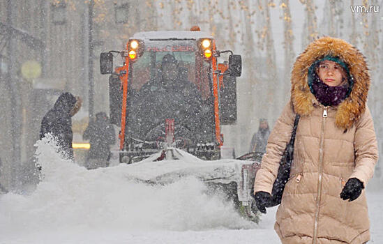
[(320, 132), (320, 158), (319, 158), (319, 170), (318, 170), (318, 186), (317, 186), (317, 199), (316, 199), (316, 211), (315, 211), (315, 222), (314, 222), (314, 235), (313, 244), (317, 244), (317, 231), (318, 231), (318, 218), (320, 213), (320, 199), (322, 197), (322, 174), (323, 174), (323, 144), (324, 144), (324, 125), (327, 118), (327, 107), (323, 108), (323, 120), (322, 130)]

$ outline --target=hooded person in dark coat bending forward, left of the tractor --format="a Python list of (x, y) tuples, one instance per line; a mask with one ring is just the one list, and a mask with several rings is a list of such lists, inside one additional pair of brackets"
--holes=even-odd
[(72, 116), (78, 112), (81, 104), (79, 97), (69, 92), (62, 93), (41, 121), (40, 139), (50, 133), (57, 141), (59, 152), (70, 160), (74, 160)]

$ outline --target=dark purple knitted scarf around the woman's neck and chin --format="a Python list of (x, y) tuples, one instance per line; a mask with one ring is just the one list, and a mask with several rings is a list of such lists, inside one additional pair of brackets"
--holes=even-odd
[(328, 86), (317, 75), (313, 80), (314, 96), (324, 106), (336, 106), (345, 100), (348, 91), (348, 83), (340, 86)]

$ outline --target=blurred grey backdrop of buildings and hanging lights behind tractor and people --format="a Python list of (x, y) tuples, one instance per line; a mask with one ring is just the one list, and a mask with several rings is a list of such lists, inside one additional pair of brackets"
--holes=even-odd
[(238, 119), (223, 126), (224, 145), (237, 156), (248, 152), (259, 119), (273, 127), (290, 97), (296, 56), (321, 36), (343, 38), (366, 56), (382, 154), (382, 7), (382, 0), (0, 0), (0, 183), (12, 189), (30, 180), (41, 119), (62, 91), (83, 100), (73, 117), (74, 140), (89, 116), (109, 112), (100, 52), (125, 49), (138, 31), (193, 25), (211, 33), (218, 49), (242, 55)]

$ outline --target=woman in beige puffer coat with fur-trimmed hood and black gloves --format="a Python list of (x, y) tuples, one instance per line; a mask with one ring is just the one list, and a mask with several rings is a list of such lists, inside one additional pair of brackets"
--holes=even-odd
[(296, 59), (291, 82), (290, 102), (255, 177), (256, 204), (266, 213), (299, 114), (294, 162), (274, 229), (283, 244), (366, 243), (370, 224), (362, 189), (373, 176), (378, 150), (365, 58), (344, 40), (320, 38)]

